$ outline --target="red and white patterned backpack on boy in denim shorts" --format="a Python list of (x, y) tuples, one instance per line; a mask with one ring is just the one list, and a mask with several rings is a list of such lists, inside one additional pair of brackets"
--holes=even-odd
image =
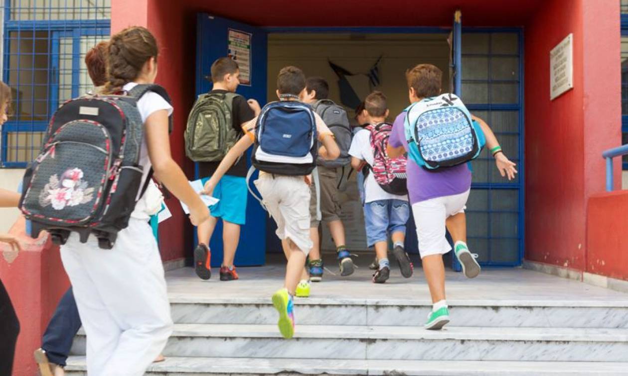
[(386, 152), (393, 125), (391, 123), (379, 123), (367, 125), (365, 128), (371, 132), (371, 148), (374, 157), (373, 165), (369, 166), (369, 172), (373, 173), (375, 181), (384, 191), (396, 195), (408, 194), (408, 187), (406, 186), (408, 159), (405, 155), (389, 158)]

